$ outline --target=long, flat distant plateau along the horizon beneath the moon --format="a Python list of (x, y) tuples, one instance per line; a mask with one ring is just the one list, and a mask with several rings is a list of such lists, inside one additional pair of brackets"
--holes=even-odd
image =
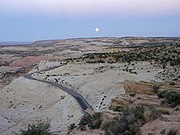
[(180, 45), (180, 37), (93, 37), (70, 38), (64, 40), (39, 40), (32, 43), (35, 46), (53, 45), (102, 45), (114, 47)]

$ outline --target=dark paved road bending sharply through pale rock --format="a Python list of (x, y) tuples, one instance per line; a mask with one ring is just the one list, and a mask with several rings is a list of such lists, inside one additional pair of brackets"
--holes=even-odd
[[(62, 65), (61, 65), (62, 66)], [(38, 71), (38, 72), (34, 72), (34, 73), (41, 73), (41, 72), (46, 72), (46, 71), (50, 71), (50, 70), (53, 70), (55, 68), (58, 68), (60, 66), (56, 66), (56, 67), (53, 67), (53, 68), (48, 68), (48, 69), (44, 69), (44, 70), (41, 70), (41, 71)], [(77, 93), (76, 91), (74, 91), (73, 89), (69, 89), (69, 88), (66, 88), (64, 87), (63, 85), (61, 84), (58, 84), (58, 83), (55, 83), (55, 82), (49, 82), (49, 81), (46, 81), (46, 80), (40, 80), (40, 79), (36, 79), (36, 78), (33, 78), (32, 75), (34, 73), (30, 73), (30, 74), (26, 74), (24, 75), (25, 78), (27, 79), (30, 79), (30, 80), (36, 80), (36, 81), (39, 81), (39, 82), (43, 82), (43, 83), (47, 83), (47, 84), (50, 84), (52, 86), (55, 86), (55, 87), (58, 87), (60, 88), (61, 90), (67, 92), (68, 94), (70, 94), (71, 96), (73, 96), (77, 102), (79, 103), (79, 105), (81, 106), (82, 110), (85, 111), (86, 109), (91, 109), (93, 110), (93, 108), (91, 107), (91, 105), (83, 98), (83, 96), (81, 96), (79, 93)]]

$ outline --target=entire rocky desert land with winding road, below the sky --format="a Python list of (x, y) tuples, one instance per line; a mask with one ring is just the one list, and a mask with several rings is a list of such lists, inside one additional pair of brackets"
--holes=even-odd
[(180, 38), (2, 45), (0, 95), (0, 135), (180, 135)]

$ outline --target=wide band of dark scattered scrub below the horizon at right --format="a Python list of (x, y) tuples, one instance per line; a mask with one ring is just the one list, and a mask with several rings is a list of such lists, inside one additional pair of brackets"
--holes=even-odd
[(90, 60), (88, 63), (154, 61), (164, 68), (167, 63), (171, 66), (180, 65), (178, 45), (137, 46), (129, 49), (130, 51), (85, 54), (83, 59)]

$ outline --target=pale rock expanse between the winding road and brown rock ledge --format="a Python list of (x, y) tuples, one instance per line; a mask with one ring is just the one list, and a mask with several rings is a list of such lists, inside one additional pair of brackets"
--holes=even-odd
[(95, 111), (106, 110), (112, 98), (125, 94), (123, 83), (132, 81), (161, 81), (155, 76), (162, 69), (148, 62), (139, 62), (134, 66), (128, 65), (137, 74), (126, 72), (126, 63), (115, 64), (67, 64), (34, 77), (53, 81), (74, 89), (80, 93)]

